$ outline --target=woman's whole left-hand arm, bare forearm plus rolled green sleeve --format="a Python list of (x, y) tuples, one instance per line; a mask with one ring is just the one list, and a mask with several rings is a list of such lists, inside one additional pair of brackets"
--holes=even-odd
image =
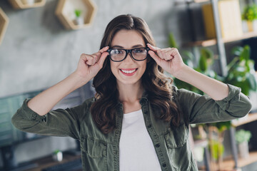
[(91, 103), (91, 100), (86, 100), (83, 105), (76, 108), (49, 111), (61, 98), (86, 84), (99, 72), (108, 56), (107, 49), (108, 47), (103, 48), (93, 55), (82, 54), (78, 68), (64, 81), (36, 95), (31, 100), (24, 100), (24, 104), (11, 118), (13, 125), (28, 133), (79, 138), (79, 122), (89, 113), (88, 103)]

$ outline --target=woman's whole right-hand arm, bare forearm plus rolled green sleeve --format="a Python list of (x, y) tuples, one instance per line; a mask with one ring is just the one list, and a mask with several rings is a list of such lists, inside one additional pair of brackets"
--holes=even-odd
[(176, 48), (156, 48), (148, 44), (148, 53), (165, 71), (190, 83), (207, 95), (198, 95), (188, 90), (176, 90), (178, 105), (189, 123), (206, 123), (231, 120), (246, 115), (251, 102), (241, 93), (241, 88), (226, 85), (220, 81), (194, 71), (186, 66)]

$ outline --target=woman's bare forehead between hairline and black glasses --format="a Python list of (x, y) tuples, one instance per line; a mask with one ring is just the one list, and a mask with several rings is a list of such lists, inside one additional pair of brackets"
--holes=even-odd
[(118, 31), (111, 41), (111, 46), (122, 46), (124, 48), (131, 48), (138, 44), (146, 46), (141, 33), (138, 33), (138, 31), (135, 30), (123, 29)]

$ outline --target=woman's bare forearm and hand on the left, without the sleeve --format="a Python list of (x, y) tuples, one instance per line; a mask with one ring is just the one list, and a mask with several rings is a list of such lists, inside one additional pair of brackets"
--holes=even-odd
[(96, 76), (96, 73), (102, 68), (106, 56), (108, 56), (108, 53), (106, 52), (107, 49), (108, 47), (102, 48), (93, 55), (86, 55), (83, 53), (79, 59), (76, 71), (55, 86), (52, 86), (29, 100), (29, 108), (39, 115), (46, 115), (46, 113), (49, 113), (51, 108), (53, 108), (62, 98), (77, 88), (84, 86)]

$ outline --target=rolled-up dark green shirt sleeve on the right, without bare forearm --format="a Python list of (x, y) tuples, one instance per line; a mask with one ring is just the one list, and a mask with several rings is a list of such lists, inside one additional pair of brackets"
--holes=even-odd
[(241, 118), (251, 110), (251, 101), (241, 93), (241, 88), (228, 84), (228, 96), (213, 100), (184, 89), (176, 89), (179, 105), (189, 123), (213, 123)]

